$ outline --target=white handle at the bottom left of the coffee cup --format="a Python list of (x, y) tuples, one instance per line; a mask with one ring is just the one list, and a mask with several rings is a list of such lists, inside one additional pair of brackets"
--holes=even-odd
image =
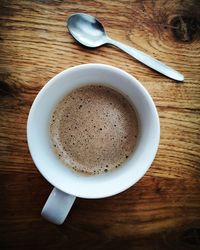
[(60, 225), (67, 217), (76, 197), (54, 188), (50, 193), (41, 215), (48, 221)]

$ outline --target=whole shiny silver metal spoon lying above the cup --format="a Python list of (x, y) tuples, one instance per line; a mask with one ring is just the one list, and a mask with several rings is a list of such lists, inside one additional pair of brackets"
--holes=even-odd
[(103, 25), (93, 16), (83, 13), (71, 15), (67, 20), (67, 27), (71, 35), (79, 43), (87, 47), (96, 48), (106, 43), (112, 44), (161, 74), (177, 81), (184, 80), (184, 76), (181, 73), (170, 68), (164, 63), (154, 59), (142, 51), (129, 47), (108, 37)]

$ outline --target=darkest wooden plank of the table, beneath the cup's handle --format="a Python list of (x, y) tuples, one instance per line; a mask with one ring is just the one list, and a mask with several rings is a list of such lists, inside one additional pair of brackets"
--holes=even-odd
[[(144, 246), (141, 239), (150, 241), (149, 249), (155, 249), (154, 240), (159, 241), (159, 249), (178, 244), (193, 249), (190, 247), (200, 240), (199, 234), (195, 239), (200, 222), (199, 179), (191, 182), (146, 176), (122, 194), (99, 200), (77, 199), (61, 227), (40, 216), (51, 186), (38, 173), (1, 174), (0, 182), (0, 232), (5, 249), (81, 249), (82, 244), (84, 249), (114, 249), (116, 244), (135, 249), (135, 244)], [(186, 236), (184, 241), (185, 234), (192, 243)], [(136, 239), (140, 239), (138, 243)]]

